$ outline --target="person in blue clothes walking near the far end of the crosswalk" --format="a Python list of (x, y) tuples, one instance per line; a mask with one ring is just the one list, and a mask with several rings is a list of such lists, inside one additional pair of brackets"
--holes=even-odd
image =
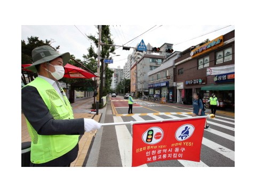
[[(204, 113), (204, 104), (202, 97), (199, 93), (194, 93), (193, 94), (194, 102), (193, 102), (193, 117), (196, 116), (205, 116)], [(207, 124), (207, 121), (205, 121), (205, 126), (204, 129), (209, 128), (210, 126)]]

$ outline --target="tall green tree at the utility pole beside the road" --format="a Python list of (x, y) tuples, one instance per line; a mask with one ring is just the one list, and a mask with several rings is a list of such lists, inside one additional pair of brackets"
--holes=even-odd
[[(99, 29), (99, 26), (95, 26), (97, 29)], [(99, 35), (99, 34), (98, 34)], [(98, 43), (99, 39), (98, 36), (95, 37), (94, 35), (88, 36), (91, 41), (95, 44), (98, 50)], [(106, 44), (114, 44), (113, 39), (111, 38), (110, 34), (110, 27), (108, 25), (102, 25), (101, 27), (101, 43), (106, 43)], [(115, 47), (114, 46), (109, 46), (109, 45), (104, 45), (101, 46), (101, 53), (100, 57), (101, 58), (109, 58), (110, 53), (115, 54)], [(88, 49), (88, 58), (98, 58), (98, 51), (95, 51), (93, 46), (91, 45)], [(104, 66), (103, 66), (103, 59), (101, 59), (101, 69), (100, 69), (100, 98), (102, 98), (103, 95), (106, 95), (110, 92), (110, 85), (111, 85), (111, 76), (113, 74), (113, 71), (111, 71), (108, 67), (108, 64), (106, 63), (105, 66), (105, 86), (103, 86), (103, 74), (104, 74)], [(101, 99), (100, 99), (101, 102)]]

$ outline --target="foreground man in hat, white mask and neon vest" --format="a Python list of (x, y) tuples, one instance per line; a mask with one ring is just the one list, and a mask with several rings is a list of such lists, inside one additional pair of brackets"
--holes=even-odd
[(38, 77), (21, 90), (21, 109), (31, 138), (30, 166), (70, 166), (78, 154), (79, 135), (100, 129), (101, 124), (89, 118), (74, 119), (58, 82), (69, 53), (59, 54), (44, 45), (32, 51), (32, 58), (33, 65), (27, 69)]

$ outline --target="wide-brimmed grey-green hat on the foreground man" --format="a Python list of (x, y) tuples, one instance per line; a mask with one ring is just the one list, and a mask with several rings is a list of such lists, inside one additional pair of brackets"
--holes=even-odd
[(68, 52), (60, 54), (58, 51), (54, 50), (51, 46), (48, 45), (36, 47), (34, 50), (32, 50), (33, 64), (29, 67), (26, 67), (26, 69), (37, 72), (35, 67), (36, 65), (52, 61), (58, 57), (62, 58), (63, 66), (65, 66), (70, 59), (70, 54)]

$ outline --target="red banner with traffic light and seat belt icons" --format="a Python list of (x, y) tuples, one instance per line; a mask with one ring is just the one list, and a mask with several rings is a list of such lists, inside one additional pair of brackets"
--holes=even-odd
[(200, 161), (205, 118), (133, 125), (132, 166), (184, 159)]

